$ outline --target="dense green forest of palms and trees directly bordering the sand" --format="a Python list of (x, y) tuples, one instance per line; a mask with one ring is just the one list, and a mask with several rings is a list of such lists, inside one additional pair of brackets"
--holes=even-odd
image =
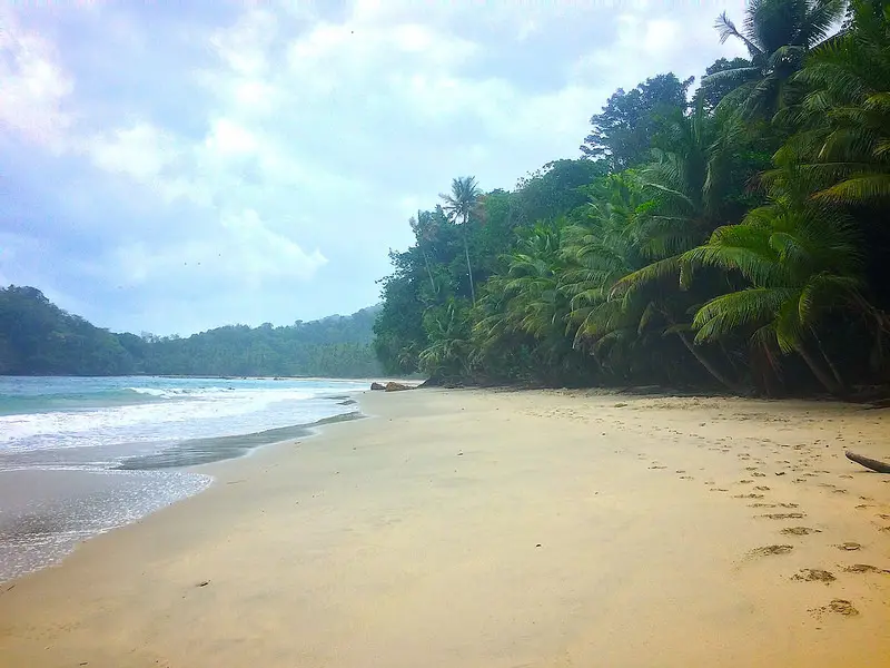
[(512, 191), (390, 253), (375, 347), (443, 381), (769, 396), (887, 386), (890, 0), (752, 0), (694, 78), (617, 90)]

